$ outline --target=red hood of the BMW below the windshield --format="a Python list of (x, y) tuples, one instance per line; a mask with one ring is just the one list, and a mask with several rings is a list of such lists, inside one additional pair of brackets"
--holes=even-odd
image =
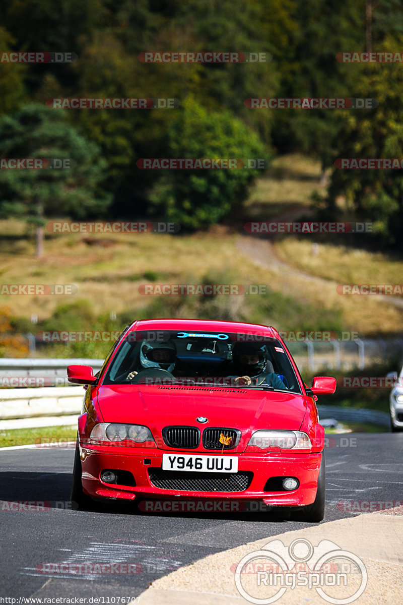
[(108, 385), (97, 397), (105, 422), (146, 425), (155, 437), (170, 425), (237, 428), (245, 438), (259, 429), (298, 430), (306, 411), (301, 395), (263, 390)]

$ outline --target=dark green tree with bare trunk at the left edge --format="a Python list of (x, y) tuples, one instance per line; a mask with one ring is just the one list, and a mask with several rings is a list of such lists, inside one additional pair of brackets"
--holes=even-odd
[(105, 212), (111, 201), (102, 188), (106, 162), (99, 149), (81, 136), (62, 110), (26, 105), (0, 120), (2, 159), (73, 160), (65, 169), (2, 169), (0, 215), (19, 216), (36, 225), (36, 254), (43, 254), (45, 217), (75, 218)]

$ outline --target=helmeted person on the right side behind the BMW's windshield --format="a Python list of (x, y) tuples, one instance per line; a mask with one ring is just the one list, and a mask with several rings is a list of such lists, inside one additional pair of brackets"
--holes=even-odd
[(266, 347), (255, 342), (236, 342), (233, 347), (233, 364), (240, 385), (268, 384), (277, 389), (286, 386), (275, 372), (266, 371)]

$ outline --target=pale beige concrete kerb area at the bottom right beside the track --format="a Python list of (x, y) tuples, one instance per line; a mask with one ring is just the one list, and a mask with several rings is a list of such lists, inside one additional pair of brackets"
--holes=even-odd
[[(140, 595), (140, 602), (143, 605), (210, 605), (223, 601), (234, 604), (248, 603), (249, 601), (240, 596), (234, 581), (234, 568), (239, 561), (272, 540), (281, 540), (285, 546), (289, 546), (293, 540), (305, 538), (312, 546), (318, 545), (321, 540), (330, 540), (363, 561), (368, 574), (367, 586), (354, 603), (400, 605), (403, 589), (402, 512), (402, 508), (390, 509), (382, 513), (362, 514), (312, 525), (210, 555), (155, 580)], [(308, 587), (287, 589), (276, 601), (279, 605), (304, 602), (323, 605), (328, 601), (314, 588)]]

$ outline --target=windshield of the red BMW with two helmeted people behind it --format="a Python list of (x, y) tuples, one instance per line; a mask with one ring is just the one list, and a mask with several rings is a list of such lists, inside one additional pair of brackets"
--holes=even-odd
[(233, 387), (301, 393), (276, 338), (245, 333), (129, 332), (103, 384)]

